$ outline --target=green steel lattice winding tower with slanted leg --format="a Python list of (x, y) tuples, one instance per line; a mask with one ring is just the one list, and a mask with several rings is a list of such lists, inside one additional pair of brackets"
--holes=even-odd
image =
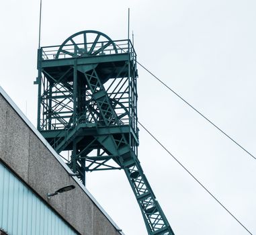
[(38, 50), (38, 130), (85, 184), (124, 169), (148, 234), (174, 234), (138, 160), (136, 52), (130, 40), (73, 34)]

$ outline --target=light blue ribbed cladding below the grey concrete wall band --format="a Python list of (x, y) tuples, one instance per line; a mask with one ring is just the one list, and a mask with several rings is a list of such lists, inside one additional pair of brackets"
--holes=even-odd
[(12, 235), (77, 234), (1, 162), (0, 228)]

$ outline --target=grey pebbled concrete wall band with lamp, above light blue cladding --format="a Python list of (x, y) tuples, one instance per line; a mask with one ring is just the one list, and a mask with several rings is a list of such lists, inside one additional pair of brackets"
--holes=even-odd
[[(123, 234), (1, 87), (0, 160), (80, 234)], [(71, 184), (72, 191), (48, 199)]]

